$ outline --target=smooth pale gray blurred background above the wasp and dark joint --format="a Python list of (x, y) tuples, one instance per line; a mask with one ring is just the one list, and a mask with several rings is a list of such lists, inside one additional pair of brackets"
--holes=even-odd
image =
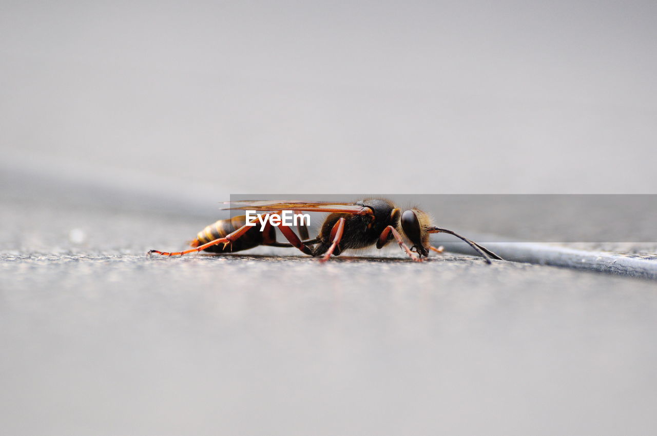
[(654, 192), (654, 1), (0, 8), (5, 165), (215, 197)]

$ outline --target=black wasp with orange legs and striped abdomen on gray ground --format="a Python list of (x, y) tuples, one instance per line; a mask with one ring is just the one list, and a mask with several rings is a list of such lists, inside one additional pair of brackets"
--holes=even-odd
[[(287, 225), (279, 226), (281, 233), (288, 242), (277, 242), (275, 229), (266, 219), (253, 219), (247, 223), (246, 215), (239, 215), (231, 219), (220, 219), (214, 224), (198, 232), (196, 239), (190, 245), (191, 250), (185, 251), (148, 251), (165, 256), (185, 255), (194, 251), (208, 251), (210, 253), (227, 253), (248, 250), (257, 246), (290, 247), (311, 255), (321, 256), (321, 261), (327, 261), (331, 255), (340, 255), (344, 250), (357, 250), (376, 244), (376, 248), (383, 248), (396, 240), (401, 250), (405, 251), (413, 261), (422, 261), (428, 257), (429, 251), (441, 252), (440, 248), (431, 246), (429, 242), (432, 233), (447, 233), (468, 243), (476, 250), (487, 263), (491, 259), (503, 260), (497, 254), (480, 246), (474, 241), (453, 232), (453, 230), (440, 229), (432, 225), (430, 216), (413, 207), (401, 211), (390, 200), (382, 198), (366, 198), (354, 203), (333, 202), (233, 202), (229, 210), (255, 210), (263, 215), (278, 213), (283, 210), (327, 212), (319, 234), (309, 239), (305, 225), (298, 226), (299, 236)], [(410, 242), (411, 247), (406, 244)]]

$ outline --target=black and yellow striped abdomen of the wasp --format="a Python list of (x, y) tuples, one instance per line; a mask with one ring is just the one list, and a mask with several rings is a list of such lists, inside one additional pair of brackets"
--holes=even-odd
[[(220, 219), (216, 223), (211, 224), (198, 232), (196, 239), (193, 240), (190, 245), (198, 247), (210, 241), (214, 241), (215, 239), (225, 238), (227, 234), (234, 232), (245, 224), (246, 215), (239, 215), (238, 217), (233, 217), (231, 219)], [(265, 232), (261, 232), (260, 228), (260, 222), (256, 221), (254, 227), (246, 230), (246, 233), (244, 233), (238, 240), (233, 242), (233, 244), (226, 246), (225, 250), (223, 244), (217, 244), (206, 248), (204, 251), (210, 253), (231, 253), (257, 247), (263, 243), (265, 236), (269, 236), (272, 240), (275, 240), (275, 231), (273, 227), (269, 227), (269, 232), (271, 233), (269, 235), (265, 235)]]

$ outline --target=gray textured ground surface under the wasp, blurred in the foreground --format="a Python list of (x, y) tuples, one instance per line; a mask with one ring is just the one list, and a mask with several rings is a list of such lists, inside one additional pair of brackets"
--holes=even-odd
[(3, 434), (657, 430), (654, 282), (461, 255), (147, 259), (206, 221), (15, 196), (0, 217)]

